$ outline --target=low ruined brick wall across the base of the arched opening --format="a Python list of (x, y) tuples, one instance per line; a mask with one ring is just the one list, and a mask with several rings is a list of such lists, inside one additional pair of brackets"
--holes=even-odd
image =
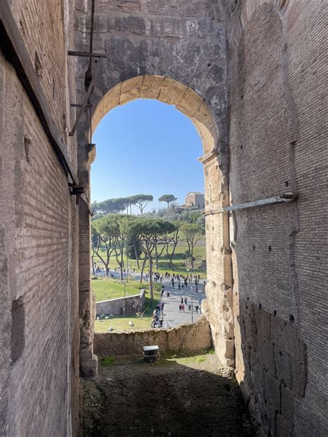
[(170, 329), (95, 333), (93, 349), (99, 357), (142, 353), (143, 346), (157, 344), (165, 351), (200, 351), (212, 346), (210, 325), (205, 316), (196, 323)]

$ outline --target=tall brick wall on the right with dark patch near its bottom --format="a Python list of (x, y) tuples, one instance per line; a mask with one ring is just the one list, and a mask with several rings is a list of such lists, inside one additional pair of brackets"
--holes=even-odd
[(224, 1), (230, 202), (299, 196), (230, 215), (237, 379), (271, 436), (328, 429), (324, 3)]

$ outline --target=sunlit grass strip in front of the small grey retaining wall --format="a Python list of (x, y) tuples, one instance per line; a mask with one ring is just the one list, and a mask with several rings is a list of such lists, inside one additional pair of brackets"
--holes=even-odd
[[(94, 281), (98, 282), (98, 281)], [(134, 284), (139, 284), (134, 281)], [(139, 284), (140, 285), (140, 284)], [(147, 291), (147, 286), (146, 286)], [(149, 297), (149, 291), (147, 291), (145, 306), (144, 306), (144, 315), (143, 317), (136, 316), (115, 316), (111, 319), (104, 320), (95, 320), (95, 332), (96, 333), (104, 333), (107, 332), (109, 326), (112, 326), (115, 331), (129, 331), (131, 329), (148, 329), (150, 328), (150, 324), (152, 322), (152, 314), (154, 308), (159, 300), (161, 292), (161, 284), (154, 283), (154, 301), (152, 303)], [(129, 326), (129, 321), (134, 323), (134, 326)]]

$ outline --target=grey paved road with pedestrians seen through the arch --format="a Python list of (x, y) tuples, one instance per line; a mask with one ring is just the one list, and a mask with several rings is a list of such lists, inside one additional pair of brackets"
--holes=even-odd
[[(98, 276), (104, 276), (104, 272), (97, 273)], [(114, 272), (113, 270), (109, 271), (109, 275), (113, 275), (115, 279), (120, 279), (119, 272)], [(133, 277), (134, 279), (138, 280), (140, 278), (140, 275), (138, 272), (131, 273), (129, 277)], [(203, 281), (203, 280), (202, 280)], [(178, 282), (174, 281), (174, 288), (172, 288), (170, 284), (170, 280), (163, 279), (163, 286), (164, 294), (162, 297), (162, 301), (164, 302), (164, 310), (163, 310), (163, 328), (172, 328), (173, 326), (178, 326), (183, 323), (192, 322), (192, 319), (194, 322), (196, 322), (200, 317), (201, 313), (198, 311), (196, 313), (195, 306), (199, 305), (199, 299), (202, 301), (203, 299), (206, 299), (206, 295), (204, 292), (201, 291), (201, 284), (199, 285), (199, 292), (196, 292), (196, 286), (193, 284), (190, 286), (188, 283), (187, 288), (181, 288), (179, 290), (178, 288)], [(145, 285), (145, 288), (147, 289), (148, 282), (144, 281), (143, 284)], [(182, 284), (182, 283), (181, 283)], [(170, 297), (167, 297), (167, 291), (170, 292)], [(187, 297), (187, 303), (192, 304), (192, 311), (188, 309), (188, 306), (185, 306), (185, 313), (179, 313), (179, 305), (181, 303), (181, 297), (185, 298)]]

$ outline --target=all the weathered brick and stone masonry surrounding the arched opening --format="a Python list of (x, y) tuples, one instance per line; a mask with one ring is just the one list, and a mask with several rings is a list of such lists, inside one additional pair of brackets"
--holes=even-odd
[[(89, 50), (91, 1), (3, 0), (1, 14), (9, 3), (86, 197), (90, 133), (110, 109), (156, 98), (194, 122), (216, 212), (203, 308), (217, 353), (267, 436), (326, 436), (327, 2), (97, 0), (93, 51), (106, 57), (78, 141), (70, 105), (89, 59), (67, 50)], [(89, 210), (0, 37), (0, 434), (71, 436), (79, 369), (97, 372)], [(222, 213), (289, 192), (298, 200)]]

